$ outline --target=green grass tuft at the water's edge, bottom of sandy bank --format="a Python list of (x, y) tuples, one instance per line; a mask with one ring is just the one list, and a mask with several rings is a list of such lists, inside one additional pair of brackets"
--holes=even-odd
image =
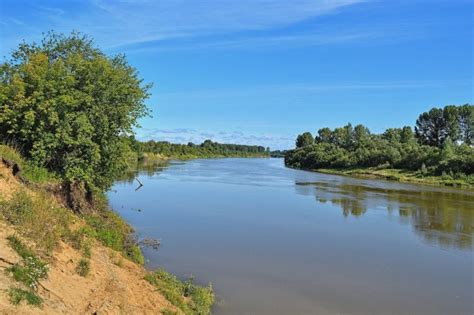
[(180, 281), (172, 274), (157, 270), (145, 276), (145, 280), (154, 285), (168, 301), (178, 307), (185, 314), (210, 314), (214, 303), (212, 286), (200, 287), (193, 283), (193, 279)]

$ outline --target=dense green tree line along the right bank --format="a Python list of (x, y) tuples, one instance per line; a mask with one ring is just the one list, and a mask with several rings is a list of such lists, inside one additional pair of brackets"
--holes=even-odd
[(389, 128), (373, 134), (351, 124), (298, 135), (285, 154), (294, 168), (378, 167), (463, 177), (474, 173), (474, 106), (449, 105), (422, 113), (415, 128)]

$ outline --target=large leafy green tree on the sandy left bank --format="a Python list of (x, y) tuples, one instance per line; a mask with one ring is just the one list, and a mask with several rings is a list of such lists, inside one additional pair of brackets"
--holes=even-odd
[(148, 114), (149, 88), (123, 55), (79, 33), (48, 33), (1, 65), (0, 137), (66, 182), (104, 190), (125, 166), (124, 139)]

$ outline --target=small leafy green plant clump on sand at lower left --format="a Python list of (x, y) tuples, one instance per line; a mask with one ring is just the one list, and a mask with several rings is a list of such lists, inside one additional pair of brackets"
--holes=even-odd
[(6, 269), (18, 282), (23, 283), (32, 290), (37, 290), (39, 281), (48, 277), (48, 265), (39, 259), (28, 247), (26, 247), (16, 236), (9, 236), (10, 247), (22, 258), (17, 263)]

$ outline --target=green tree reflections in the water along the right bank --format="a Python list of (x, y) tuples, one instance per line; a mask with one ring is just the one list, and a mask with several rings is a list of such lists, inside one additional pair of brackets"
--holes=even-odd
[(470, 249), (474, 232), (474, 194), (467, 191), (407, 190), (345, 182), (297, 183), (296, 190), (321, 203), (340, 207), (344, 216), (362, 216), (368, 209), (398, 212), (399, 220), (442, 247)]

